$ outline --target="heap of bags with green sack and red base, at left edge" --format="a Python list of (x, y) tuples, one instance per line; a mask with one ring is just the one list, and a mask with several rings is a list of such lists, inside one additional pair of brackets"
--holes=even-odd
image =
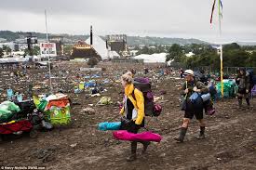
[(4, 101), (0, 104), (0, 136), (21, 135), (29, 132), (30, 137), (36, 137), (38, 130), (51, 129), (42, 112), (37, 111), (33, 100), (22, 102)]

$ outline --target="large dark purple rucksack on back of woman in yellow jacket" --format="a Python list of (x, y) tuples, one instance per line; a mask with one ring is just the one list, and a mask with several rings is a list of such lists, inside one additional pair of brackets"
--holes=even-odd
[[(160, 105), (155, 105), (154, 96), (151, 90), (151, 83), (148, 78), (135, 78), (133, 85), (135, 88), (139, 89), (144, 97), (144, 112), (146, 116), (159, 116), (162, 109)], [(133, 98), (134, 92), (133, 92)]]

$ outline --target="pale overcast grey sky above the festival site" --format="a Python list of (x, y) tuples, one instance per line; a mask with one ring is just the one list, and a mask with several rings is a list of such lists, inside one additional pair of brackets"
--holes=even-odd
[(213, 0), (0, 0), (0, 30), (256, 41), (256, 1), (222, 0), (222, 39)]

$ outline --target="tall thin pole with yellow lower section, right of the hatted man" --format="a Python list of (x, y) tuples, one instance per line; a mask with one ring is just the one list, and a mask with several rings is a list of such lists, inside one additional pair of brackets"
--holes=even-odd
[[(222, 13), (221, 13), (221, 0), (219, 1), (219, 30), (220, 30), (220, 39), (222, 40)], [(222, 56), (222, 43), (220, 45), (221, 48), (221, 55), (220, 55), (220, 60), (221, 60), (221, 84), (222, 84), (222, 98), (224, 97), (224, 85), (223, 85), (223, 56)]]

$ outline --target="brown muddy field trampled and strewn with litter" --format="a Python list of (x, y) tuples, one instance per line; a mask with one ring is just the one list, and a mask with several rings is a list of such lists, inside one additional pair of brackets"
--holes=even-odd
[[(116, 77), (126, 69), (137, 67), (140, 71), (143, 66), (129, 65), (128, 68), (124, 68), (122, 65), (114, 67), (109, 63), (101, 63), (101, 67), (106, 68), (101, 79), (113, 80), (110, 84), (104, 85), (107, 91), (101, 93), (101, 97), (111, 97), (113, 100), (113, 104), (107, 106), (95, 106), (101, 97), (89, 97), (87, 92), (74, 94), (72, 80), (75, 79), (75, 75), (72, 70), (78, 72), (79, 67), (82, 66), (65, 63), (54, 71), (58, 77), (61, 76), (60, 70), (70, 70), (63, 75), (65, 78), (53, 81), (53, 85), (57, 90), (67, 82), (68, 85), (64, 91), (74, 101), (73, 124), (69, 127), (55, 128), (49, 132), (40, 132), (37, 138), (30, 138), (26, 134), (19, 138), (9, 137), (0, 144), (0, 165), (44, 166), (52, 170), (256, 169), (256, 111), (253, 108), (238, 110), (236, 98), (217, 101), (216, 114), (205, 116), (206, 139), (196, 139), (198, 124), (193, 120), (185, 142), (178, 144), (173, 137), (179, 134), (183, 113), (180, 111), (180, 96), (176, 85), (180, 85), (182, 80), (174, 78), (176, 74), (159, 78), (155, 73), (149, 76), (153, 81), (155, 96), (160, 97), (158, 102), (162, 104), (163, 112), (157, 119), (147, 117), (146, 128), (162, 135), (163, 140), (160, 143), (152, 143), (145, 155), (141, 155), (139, 145), (137, 161), (127, 163), (126, 158), (130, 153), (129, 142), (115, 140), (112, 132), (99, 131), (97, 125), (106, 121), (119, 121), (119, 117), (115, 118), (119, 111), (117, 102), (122, 100), (123, 95), (120, 83), (115, 82)], [(154, 72), (159, 71), (154, 69)], [(45, 80), (43, 78), (47, 70), (38, 72), (42, 76), (29, 72), (29, 76), (26, 77), (34, 82), (34, 85), (36, 85), (35, 81), (42, 83)], [(4, 83), (11, 84), (6, 79)], [(24, 81), (24, 85), (21, 85), (19, 80), (21, 79), (15, 83), (16, 88), (19, 90), (20, 86), (23, 86), (24, 90), (24, 86), (29, 83)], [(44, 92), (44, 90), (47, 91), (47, 89), (41, 89), (37, 92)], [(161, 95), (163, 90), (167, 92), (165, 95)], [(251, 106), (255, 105), (254, 98)], [(86, 108), (92, 108), (94, 111), (83, 111)]]

